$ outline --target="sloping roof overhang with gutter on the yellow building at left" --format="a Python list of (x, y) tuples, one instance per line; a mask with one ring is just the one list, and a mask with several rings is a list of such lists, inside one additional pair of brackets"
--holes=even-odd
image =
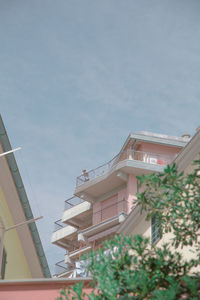
[[(0, 147), (2, 147), (4, 152), (12, 150), (1, 116), (0, 116)], [(13, 215), (13, 220), (16, 223), (20, 223), (22, 221), (33, 219), (32, 210), (28, 201), (28, 197), (22, 182), (22, 178), (14, 154), (10, 153), (6, 155), (6, 157), (5, 156), (2, 157), (1, 159), (8, 164), (10, 174), (13, 178), (15, 189), (18, 194), (17, 197), (18, 202), (16, 203), (17, 214), (15, 212), (13, 202), (9, 207)], [(51, 273), (48, 267), (46, 256), (44, 254), (44, 250), (42, 247), (42, 243), (35, 222), (17, 228), (17, 232), (19, 234), (20, 241), (23, 245), (24, 254), (27, 258), (29, 267), (31, 268), (31, 273), (33, 277), (39, 277), (42, 276), (42, 274), (44, 275), (44, 277), (51, 277)], [(38, 271), (37, 271), (37, 265), (38, 268), (40, 269)]]

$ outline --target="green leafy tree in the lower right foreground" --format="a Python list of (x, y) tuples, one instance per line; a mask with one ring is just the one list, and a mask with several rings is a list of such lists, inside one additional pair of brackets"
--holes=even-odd
[[(200, 268), (200, 161), (195, 164), (186, 176), (174, 164), (163, 173), (138, 177), (145, 189), (137, 194), (137, 205), (147, 220), (156, 215), (162, 234), (173, 232), (173, 238), (161, 247), (140, 235), (106, 241), (86, 257), (94, 289), (88, 299), (200, 299), (200, 277), (194, 273)], [(196, 259), (181, 256), (187, 246)], [(82, 289), (81, 283), (62, 290), (59, 299), (81, 300)]]

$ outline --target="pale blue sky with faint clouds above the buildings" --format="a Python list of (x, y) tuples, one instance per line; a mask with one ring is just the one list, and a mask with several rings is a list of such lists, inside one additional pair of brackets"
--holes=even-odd
[(131, 131), (200, 124), (199, 0), (0, 0), (0, 108), (51, 270), (75, 178)]

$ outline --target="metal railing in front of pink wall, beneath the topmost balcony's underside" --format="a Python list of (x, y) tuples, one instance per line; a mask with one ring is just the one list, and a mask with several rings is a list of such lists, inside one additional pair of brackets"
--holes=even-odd
[(127, 213), (127, 204), (127, 200), (123, 199), (96, 211), (94, 213), (94, 217), (97, 219), (97, 224), (107, 219), (113, 218), (119, 213)]

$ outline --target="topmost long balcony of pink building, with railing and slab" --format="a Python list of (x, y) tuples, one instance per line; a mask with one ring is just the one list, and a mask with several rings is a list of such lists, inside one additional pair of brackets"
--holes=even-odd
[(141, 176), (152, 172), (162, 172), (174, 158), (175, 155), (128, 149), (96, 169), (88, 172), (84, 170), (83, 174), (76, 179), (75, 194), (84, 197), (86, 201), (94, 202), (95, 198), (100, 195), (123, 185), (127, 181), (128, 174)]

